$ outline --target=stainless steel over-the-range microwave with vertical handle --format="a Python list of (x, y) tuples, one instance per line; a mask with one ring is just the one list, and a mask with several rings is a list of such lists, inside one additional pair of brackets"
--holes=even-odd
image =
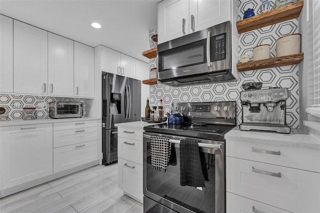
[(226, 21), (157, 45), (158, 80), (171, 86), (235, 80)]

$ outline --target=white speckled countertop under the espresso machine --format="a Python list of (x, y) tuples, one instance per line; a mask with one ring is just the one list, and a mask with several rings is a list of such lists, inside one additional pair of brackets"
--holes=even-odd
[(320, 149), (320, 137), (308, 134), (299, 129), (291, 129), (289, 134), (272, 131), (241, 131), (239, 127), (233, 128), (224, 135), (225, 142), (237, 140), (239, 142), (256, 142), (273, 145), (284, 145), (299, 148)]

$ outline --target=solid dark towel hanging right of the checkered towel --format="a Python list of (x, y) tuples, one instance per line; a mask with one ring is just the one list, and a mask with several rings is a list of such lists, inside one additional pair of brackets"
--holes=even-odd
[(205, 187), (197, 140), (180, 141), (180, 185)]

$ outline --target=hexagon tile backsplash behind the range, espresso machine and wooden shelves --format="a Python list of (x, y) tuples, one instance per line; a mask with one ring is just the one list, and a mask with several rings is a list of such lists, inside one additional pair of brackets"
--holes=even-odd
[[(240, 20), (247, 8), (253, 8), (259, 14), (260, 0), (238, 0)], [(239, 34), (238, 55), (249, 54), (252, 60), (252, 48), (260, 44), (270, 44), (270, 57), (275, 56), (277, 38), (298, 32), (297, 18), (283, 21), (260, 29)], [(241, 85), (245, 82), (262, 82), (262, 88), (286, 87), (291, 96), (286, 100), (286, 122), (292, 128), (299, 127), (299, 67), (297, 64), (267, 69), (239, 72), (236, 82), (214, 83), (183, 87), (170, 87), (162, 84), (150, 86), (150, 106), (158, 105), (163, 99), (164, 110), (169, 111), (172, 102), (202, 102), (235, 100), (237, 124), (241, 123), (241, 104), (239, 100)]]

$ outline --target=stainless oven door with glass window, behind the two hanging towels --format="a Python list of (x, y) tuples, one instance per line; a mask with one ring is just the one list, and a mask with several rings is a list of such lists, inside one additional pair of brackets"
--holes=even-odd
[[(174, 143), (176, 165), (168, 165), (166, 172), (152, 169), (150, 162), (151, 135), (170, 137), (174, 141), (185, 139), (185, 137), (179, 136), (143, 133), (144, 196), (177, 212), (199, 212), (199, 210), (210, 213), (225, 212), (224, 142), (196, 139), (199, 144), (199, 152), (205, 156), (209, 179), (209, 181), (205, 181), (205, 187), (196, 188), (180, 185), (179, 143)], [(203, 147), (205, 145), (207, 147)], [(154, 206), (156, 208), (159, 205), (154, 204)], [(149, 212), (150, 209), (152, 206), (148, 206), (148, 209), (144, 208), (144, 212)]]

